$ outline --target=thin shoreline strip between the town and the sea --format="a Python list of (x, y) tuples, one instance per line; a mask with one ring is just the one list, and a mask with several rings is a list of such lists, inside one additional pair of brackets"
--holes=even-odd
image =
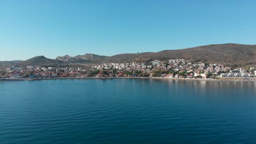
[(171, 78), (171, 77), (57, 77), (48, 79), (0, 79), (0, 81), (39, 81), (39, 80), (74, 80), (74, 79), (162, 79), (162, 80), (188, 80), (188, 81), (256, 81), (255, 78), (220, 78), (220, 79), (190, 79), (190, 78)]

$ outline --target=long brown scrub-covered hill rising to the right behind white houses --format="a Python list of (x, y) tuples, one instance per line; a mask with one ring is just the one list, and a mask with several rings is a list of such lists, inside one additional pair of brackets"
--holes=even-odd
[(256, 65), (256, 45), (218, 44), (181, 50), (160, 52), (126, 53), (108, 57), (106, 62), (152, 61), (184, 58), (190, 61), (219, 63), (229, 66)]

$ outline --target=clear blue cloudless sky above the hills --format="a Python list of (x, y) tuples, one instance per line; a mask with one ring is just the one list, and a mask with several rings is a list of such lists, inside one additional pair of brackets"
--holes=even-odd
[(0, 61), (256, 44), (256, 1), (4, 1)]

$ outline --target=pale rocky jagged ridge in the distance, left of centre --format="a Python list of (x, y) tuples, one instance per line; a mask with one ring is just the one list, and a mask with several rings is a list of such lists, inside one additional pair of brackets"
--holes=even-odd
[(63, 57), (56, 57), (57, 60), (62, 62), (71, 62), (71, 63), (83, 63), (83, 62), (95, 62), (95, 61), (101, 61), (103, 59), (107, 58), (107, 56), (99, 56), (92, 53), (86, 53), (85, 55), (78, 55), (75, 57), (71, 56), (63, 56)]

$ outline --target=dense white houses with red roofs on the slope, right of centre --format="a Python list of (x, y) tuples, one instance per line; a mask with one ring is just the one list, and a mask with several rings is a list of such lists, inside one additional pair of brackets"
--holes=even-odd
[[(225, 67), (222, 64), (206, 64), (206, 63), (192, 63), (185, 59), (170, 59), (169, 61), (159, 61), (155, 59), (152, 62), (133, 62), (133, 63), (103, 63), (100, 65), (94, 65), (90, 70), (112, 70), (118, 71), (131, 71), (133, 74), (136, 71), (141, 73), (147, 73), (149, 76), (161, 76), (171, 78), (217, 78), (224, 77), (228, 73), (236, 73), (236, 77), (255, 77), (256, 69), (251, 67), (248, 70), (238, 68), (231, 70), (230, 67)], [(158, 74), (155, 74), (158, 73)], [(159, 74), (160, 73), (160, 74)], [(136, 73), (137, 74), (137, 73)], [(125, 75), (129, 76), (129, 75)], [(232, 77), (232, 76), (225, 76)]]

